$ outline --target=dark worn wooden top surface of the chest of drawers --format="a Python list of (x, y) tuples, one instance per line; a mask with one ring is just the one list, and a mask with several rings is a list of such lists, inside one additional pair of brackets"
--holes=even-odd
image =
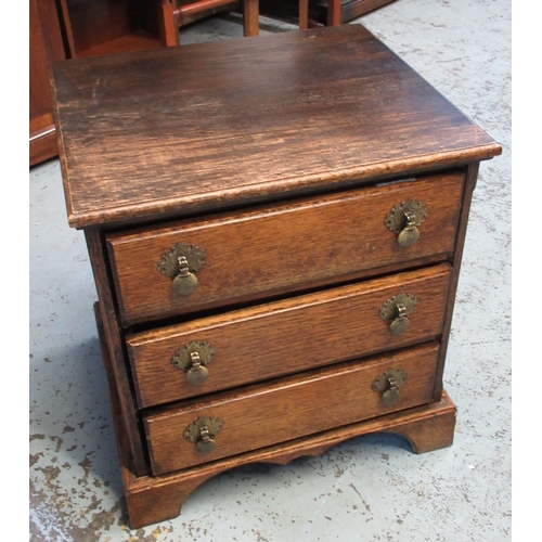
[(488, 159), (360, 25), (53, 66), (68, 221), (138, 223)]

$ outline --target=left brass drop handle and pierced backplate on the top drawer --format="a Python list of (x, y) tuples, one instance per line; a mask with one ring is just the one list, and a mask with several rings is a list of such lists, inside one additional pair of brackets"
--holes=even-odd
[(171, 286), (180, 296), (188, 296), (197, 287), (196, 273), (206, 258), (205, 250), (195, 245), (177, 243), (171, 250), (162, 255), (158, 271), (172, 279)]

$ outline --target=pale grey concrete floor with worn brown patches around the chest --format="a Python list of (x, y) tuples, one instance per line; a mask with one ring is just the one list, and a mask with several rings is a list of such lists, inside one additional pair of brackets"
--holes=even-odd
[[(390, 436), (199, 487), (170, 521), (130, 530), (82, 234), (66, 223), (57, 160), (30, 169), (30, 540), (450, 541), (511, 539), (511, 4), (398, 0), (364, 24), (500, 142), (482, 163), (444, 374), (451, 448)], [(284, 31), (284, 25), (275, 25)], [(214, 18), (184, 42), (241, 36)]]

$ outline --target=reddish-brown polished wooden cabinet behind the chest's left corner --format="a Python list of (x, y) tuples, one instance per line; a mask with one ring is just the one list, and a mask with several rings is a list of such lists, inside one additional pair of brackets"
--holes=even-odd
[(162, 47), (156, 0), (30, 0), (29, 165), (57, 156), (49, 66)]

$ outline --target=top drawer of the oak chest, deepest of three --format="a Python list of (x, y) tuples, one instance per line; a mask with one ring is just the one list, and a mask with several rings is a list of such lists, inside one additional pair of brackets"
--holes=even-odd
[[(450, 173), (109, 234), (122, 324), (442, 260), (454, 249), (463, 180)], [(409, 199), (427, 215), (418, 241), (401, 246), (385, 222)], [(179, 258), (185, 258), (181, 268)]]

